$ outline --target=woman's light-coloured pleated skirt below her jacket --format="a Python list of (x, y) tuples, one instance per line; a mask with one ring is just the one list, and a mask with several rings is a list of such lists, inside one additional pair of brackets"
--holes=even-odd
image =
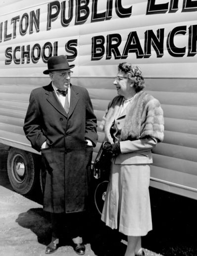
[(101, 220), (127, 236), (152, 230), (148, 164), (112, 164)]

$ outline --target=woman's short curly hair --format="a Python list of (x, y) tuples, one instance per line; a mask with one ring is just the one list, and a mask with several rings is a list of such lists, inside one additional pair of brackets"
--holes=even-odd
[(134, 88), (136, 92), (139, 92), (145, 88), (144, 77), (139, 66), (132, 66), (132, 64), (123, 62), (118, 65), (118, 70), (130, 74), (129, 79), (134, 81)]

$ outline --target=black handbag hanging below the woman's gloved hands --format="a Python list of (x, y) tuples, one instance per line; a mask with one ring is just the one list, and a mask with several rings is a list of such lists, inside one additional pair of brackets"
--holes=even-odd
[(109, 157), (103, 149), (102, 143), (95, 159), (95, 163), (93, 164), (93, 175), (95, 179), (99, 179), (101, 177), (102, 179), (108, 180), (111, 166), (110, 158), (111, 157)]

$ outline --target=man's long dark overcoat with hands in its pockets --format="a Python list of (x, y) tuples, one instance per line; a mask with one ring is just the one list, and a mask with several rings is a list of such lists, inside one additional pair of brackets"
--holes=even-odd
[[(68, 116), (52, 84), (31, 92), (24, 123), (31, 145), (41, 151), (45, 168), (44, 210), (79, 212), (85, 210), (93, 147), (96, 146), (97, 120), (87, 89), (71, 85)], [(47, 140), (48, 148), (41, 149)]]

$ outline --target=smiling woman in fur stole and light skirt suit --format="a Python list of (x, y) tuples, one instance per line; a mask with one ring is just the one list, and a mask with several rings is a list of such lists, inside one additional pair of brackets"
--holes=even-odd
[(141, 236), (152, 230), (149, 178), (151, 149), (164, 137), (163, 111), (158, 100), (143, 91), (138, 66), (122, 63), (115, 78), (118, 96), (101, 122), (104, 150), (111, 172), (101, 219), (128, 236), (125, 256), (143, 256)]

